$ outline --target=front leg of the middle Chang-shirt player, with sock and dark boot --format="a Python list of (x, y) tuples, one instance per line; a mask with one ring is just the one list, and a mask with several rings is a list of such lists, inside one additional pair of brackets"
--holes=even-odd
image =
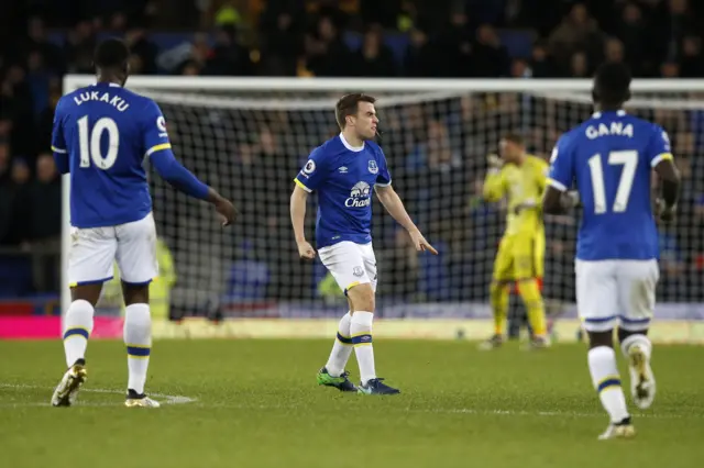
[(352, 320), (350, 334), (354, 354), (360, 366), (360, 380), (358, 391), (364, 394), (396, 394), (400, 393), (395, 388), (383, 383), (384, 379), (376, 377), (374, 366), (374, 347), (372, 344), (372, 323), (374, 321), (374, 290), (366, 282), (354, 286), (348, 290), (348, 298), (352, 303)]

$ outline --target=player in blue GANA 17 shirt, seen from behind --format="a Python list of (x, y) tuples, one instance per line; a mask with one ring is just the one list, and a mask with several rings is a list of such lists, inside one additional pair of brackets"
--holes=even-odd
[(575, 274), (578, 310), (590, 337), (588, 368), (610, 424), (600, 438), (635, 434), (616, 366), (613, 331), (628, 360), (635, 404), (647, 409), (656, 394), (648, 328), (658, 282), (658, 229), (651, 202), (651, 171), (658, 174), (662, 222), (674, 218), (680, 178), (667, 133), (628, 115), (630, 74), (605, 64), (593, 85), (594, 115), (565, 133), (552, 152), (546, 213), (563, 211), (576, 186), (583, 205)]

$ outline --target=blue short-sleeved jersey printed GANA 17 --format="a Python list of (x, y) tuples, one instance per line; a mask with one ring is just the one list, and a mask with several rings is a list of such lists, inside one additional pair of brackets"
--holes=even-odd
[(672, 158), (668, 134), (625, 111), (597, 112), (564, 134), (552, 152), (549, 183), (580, 192), (581, 260), (659, 257), (651, 205), (652, 168)]

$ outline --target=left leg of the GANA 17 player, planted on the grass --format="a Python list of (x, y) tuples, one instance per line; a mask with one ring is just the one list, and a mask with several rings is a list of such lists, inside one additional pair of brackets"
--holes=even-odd
[(602, 441), (628, 438), (636, 434), (620, 385), (613, 335), (613, 330), (588, 332), (590, 352), (587, 361), (592, 382), (598, 392), (602, 405), (610, 417), (608, 427), (598, 436)]

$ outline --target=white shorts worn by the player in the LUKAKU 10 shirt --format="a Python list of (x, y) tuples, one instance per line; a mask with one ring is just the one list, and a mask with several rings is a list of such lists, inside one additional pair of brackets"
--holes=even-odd
[(72, 227), (68, 282), (96, 285), (113, 277), (131, 285), (147, 285), (158, 275), (156, 226), (152, 213), (132, 223), (106, 227)]

